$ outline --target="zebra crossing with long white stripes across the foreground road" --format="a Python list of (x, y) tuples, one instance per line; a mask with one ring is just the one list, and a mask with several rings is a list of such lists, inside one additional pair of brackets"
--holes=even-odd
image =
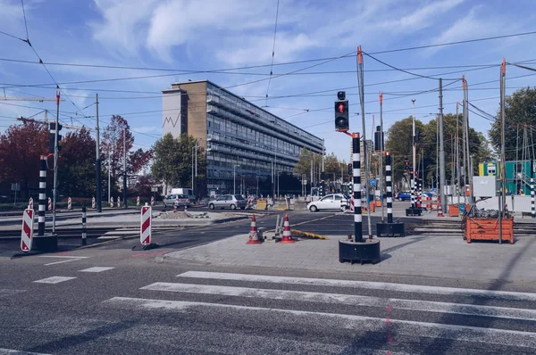
[(466, 353), (536, 348), (536, 293), (204, 271), (176, 277), (177, 282), (140, 287), (140, 297), (117, 296), (102, 305), (214, 318), (238, 328), (254, 319), (281, 329), (299, 324), (319, 336), (348, 330), (364, 339), (370, 334), (377, 348), (363, 353), (406, 353), (403, 344), (415, 339), (421, 345), (448, 343)]

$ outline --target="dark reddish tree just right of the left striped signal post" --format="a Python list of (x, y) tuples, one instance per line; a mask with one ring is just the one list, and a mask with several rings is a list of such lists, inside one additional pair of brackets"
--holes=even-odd
[(77, 197), (95, 196), (95, 139), (88, 129), (69, 132), (62, 139), (58, 157), (58, 190)]

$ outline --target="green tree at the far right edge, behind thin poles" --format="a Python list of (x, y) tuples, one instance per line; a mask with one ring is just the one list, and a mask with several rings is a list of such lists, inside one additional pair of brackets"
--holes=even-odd
[[(507, 161), (516, 160), (517, 125), (518, 124), (536, 125), (536, 88), (530, 88), (530, 87), (523, 88), (523, 89), (515, 91), (514, 94), (506, 97), (506, 101), (505, 101), (505, 153), (506, 153)], [(520, 132), (522, 131), (523, 131), (523, 126), (520, 128)], [(501, 146), (501, 122), (500, 120), (496, 120), (495, 122), (491, 124), (489, 134), (490, 134), (490, 141), (491, 141), (492, 146), (495, 148), (495, 152), (500, 153), (500, 146)]]

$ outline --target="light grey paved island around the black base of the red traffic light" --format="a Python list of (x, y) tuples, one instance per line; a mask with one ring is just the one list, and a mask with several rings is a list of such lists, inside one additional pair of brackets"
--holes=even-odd
[(296, 244), (247, 245), (247, 235), (159, 256), (163, 262), (270, 268), (301, 268), (469, 280), (536, 282), (536, 237), (515, 244), (467, 244), (459, 235), (415, 235), (380, 238), (382, 260), (376, 265), (339, 263), (339, 239), (304, 240)]

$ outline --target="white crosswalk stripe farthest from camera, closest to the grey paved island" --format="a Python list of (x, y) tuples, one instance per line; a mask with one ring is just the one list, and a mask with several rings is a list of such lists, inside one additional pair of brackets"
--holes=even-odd
[(484, 297), (508, 301), (536, 301), (536, 293), (491, 291), (470, 288), (440, 287), (425, 285), (391, 284), (371, 281), (336, 280), (307, 277), (272, 277), (264, 275), (232, 274), (221, 272), (187, 271), (177, 277), (210, 278), (229, 281), (265, 282), (271, 284), (315, 285), (332, 287), (363, 288), (389, 292), (428, 293), (448, 296)]

